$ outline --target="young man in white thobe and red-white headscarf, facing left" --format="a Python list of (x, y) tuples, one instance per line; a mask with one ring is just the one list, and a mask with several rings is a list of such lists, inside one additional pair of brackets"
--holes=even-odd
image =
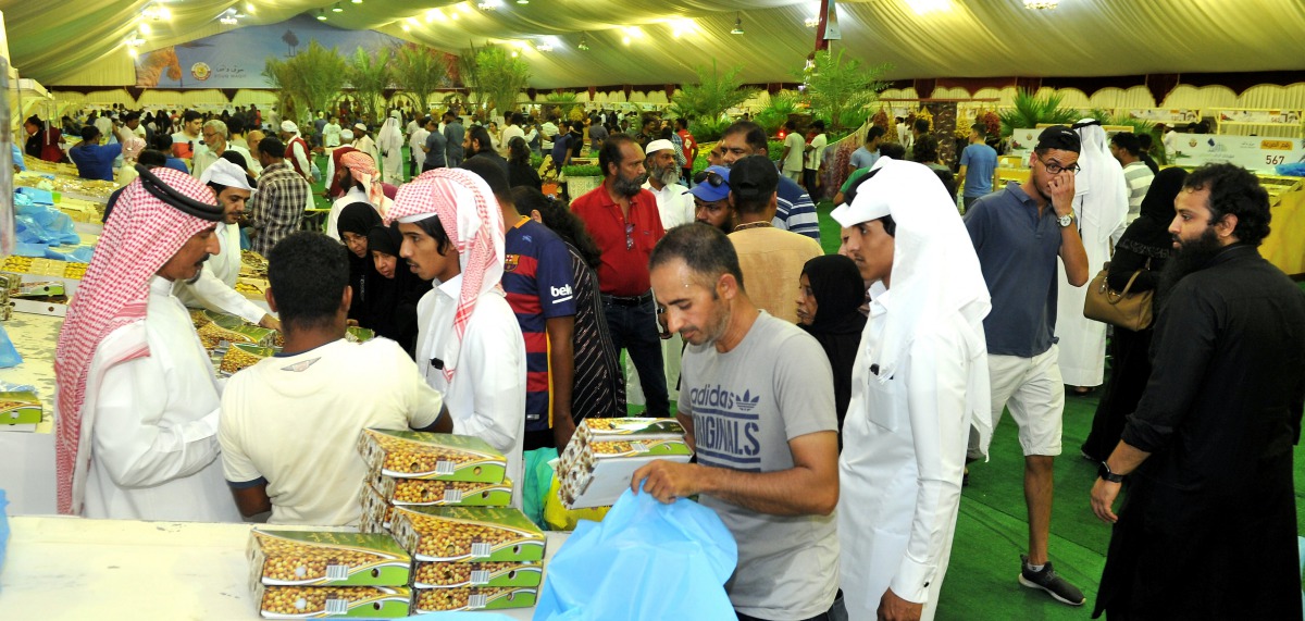
[[(444, 394), (453, 433), (475, 436), (525, 480), (526, 341), (502, 292), (502, 210), (480, 176), (436, 168), (399, 188), (386, 223), (403, 234), (399, 254), (440, 283), (416, 307), (416, 365)], [(522, 506), (513, 485), (512, 506)]]

